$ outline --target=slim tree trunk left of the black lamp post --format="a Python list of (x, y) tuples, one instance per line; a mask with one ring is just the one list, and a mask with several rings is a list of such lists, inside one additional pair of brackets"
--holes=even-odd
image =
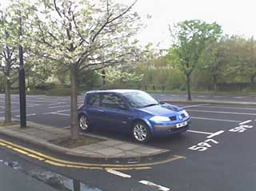
[(11, 121), (10, 79), (8, 77), (6, 77), (5, 96), (6, 96), (5, 122), (8, 123)]

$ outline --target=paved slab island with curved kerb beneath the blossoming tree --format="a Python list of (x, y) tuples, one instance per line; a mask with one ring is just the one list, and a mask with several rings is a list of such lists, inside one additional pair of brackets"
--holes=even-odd
[(54, 140), (70, 136), (69, 129), (58, 129), (48, 125), (40, 125), (31, 121), (27, 122), (27, 128), (21, 129), (19, 124), (0, 126), (0, 133), (14, 139), (26, 141), (32, 145), (50, 149), (53, 152), (70, 156), (83, 157), (90, 161), (115, 161), (118, 158), (136, 158), (142, 161), (142, 157), (159, 157), (169, 153), (168, 149), (158, 149), (147, 145), (138, 145), (126, 141), (117, 141), (109, 137), (102, 137), (93, 134), (83, 134), (87, 138), (99, 138), (100, 141), (90, 145), (82, 145), (75, 148), (64, 148), (51, 143)]

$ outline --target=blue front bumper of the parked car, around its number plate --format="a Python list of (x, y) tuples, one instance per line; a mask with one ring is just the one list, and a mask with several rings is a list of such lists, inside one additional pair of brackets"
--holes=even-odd
[[(186, 125), (182, 127), (177, 127), (178, 123), (185, 122)], [(190, 118), (185, 121), (179, 121), (178, 123), (171, 125), (154, 125), (153, 126), (153, 134), (155, 135), (164, 135), (164, 134), (174, 134), (174, 133), (182, 133), (191, 127)]]

